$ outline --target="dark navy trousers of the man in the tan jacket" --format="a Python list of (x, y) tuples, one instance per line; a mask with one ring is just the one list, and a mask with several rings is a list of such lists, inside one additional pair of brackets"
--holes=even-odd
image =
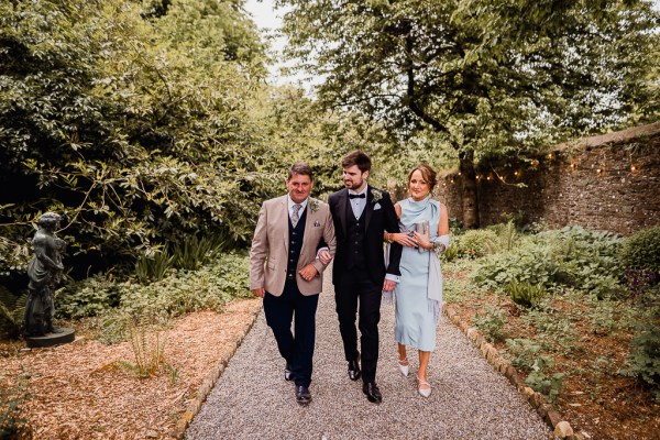
[(273, 330), (279, 354), (294, 372), (296, 385), (309, 386), (311, 383), (318, 304), (319, 296), (300, 294), (295, 280), (286, 282), (280, 296), (267, 292), (264, 295), (266, 322)]

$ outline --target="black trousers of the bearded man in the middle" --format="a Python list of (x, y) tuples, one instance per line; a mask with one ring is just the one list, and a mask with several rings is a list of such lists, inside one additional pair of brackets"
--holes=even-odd
[(360, 320), (360, 345), (362, 360), (362, 380), (375, 382), (378, 363), (378, 322), (381, 321), (381, 300), (383, 283), (375, 284), (363, 268), (345, 271), (334, 286), (339, 331), (343, 341), (346, 361), (358, 358), (358, 330), (355, 314)]

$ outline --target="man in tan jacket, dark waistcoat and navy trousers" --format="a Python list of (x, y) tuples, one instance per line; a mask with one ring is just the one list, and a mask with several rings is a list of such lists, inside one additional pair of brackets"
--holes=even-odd
[[(321, 240), (334, 255), (334, 224), (327, 204), (309, 197), (307, 164), (290, 167), (288, 195), (266, 200), (250, 251), (250, 289), (264, 298), (266, 322), (285, 359), (284, 377), (296, 383), (296, 400), (311, 400), (316, 310), (326, 265), (317, 260)], [(295, 334), (292, 320), (295, 316)]]

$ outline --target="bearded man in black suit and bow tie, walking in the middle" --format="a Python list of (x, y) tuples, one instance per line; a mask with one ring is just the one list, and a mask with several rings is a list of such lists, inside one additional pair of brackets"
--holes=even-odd
[[(376, 385), (376, 364), (381, 298), (383, 290), (389, 292), (396, 286), (402, 257), (400, 244), (392, 243), (389, 265), (385, 267), (383, 233), (399, 232), (399, 229), (389, 194), (366, 183), (371, 158), (354, 151), (342, 160), (341, 166), (345, 188), (328, 199), (337, 235), (332, 284), (339, 330), (349, 362), (349, 377), (358, 381), (362, 375), (366, 398), (380, 404), (383, 397)], [(323, 252), (319, 257), (324, 260)], [(358, 351), (358, 311), (362, 355)]]

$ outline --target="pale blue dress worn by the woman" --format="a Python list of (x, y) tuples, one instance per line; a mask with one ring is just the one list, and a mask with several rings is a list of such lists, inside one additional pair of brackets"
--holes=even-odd
[[(438, 223), (440, 222), (440, 204), (438, 201), (430, 197), (420, 201), (408, 198), (399, 201), (399, 205), (402, 207), (399, 222), (402, 232), (413, 231), (415, 223), (428, 220), (430, 239), (438, 237)], [(427, 295), (429, 261), (428, 251), (419, 252), (415, 248), (404, 246), (399, 265), (402, 275), (394, 292), (396, 298), (394, 338), (398, 343), (421, 351), (433, 351), (436, 348), (436, 327), (439, 318), (438, 310), (436, 309), (433, 312)]]

